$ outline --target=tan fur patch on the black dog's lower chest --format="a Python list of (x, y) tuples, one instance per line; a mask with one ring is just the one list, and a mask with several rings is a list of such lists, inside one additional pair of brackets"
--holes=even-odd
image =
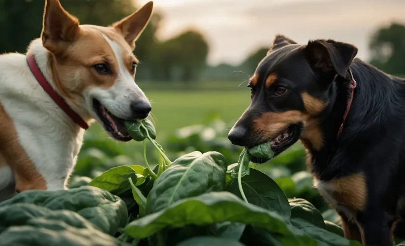
[(367, 185), (363, 173), (356, 173), (328, 182), (334, 199), (355, 211), (363, 211), (367, 202)]

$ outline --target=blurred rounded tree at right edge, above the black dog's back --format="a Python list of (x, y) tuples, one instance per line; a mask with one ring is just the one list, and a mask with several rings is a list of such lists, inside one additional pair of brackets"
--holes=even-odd
[(392, 23), (376, 31), (369, 44), (371, 63), (381, 70), (405, 74), (405, 26)]

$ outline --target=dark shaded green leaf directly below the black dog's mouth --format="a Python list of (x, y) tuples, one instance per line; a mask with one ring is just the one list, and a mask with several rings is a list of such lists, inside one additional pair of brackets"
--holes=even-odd
[[(250, 175), (242, 178), (242, 187), (249, 203), (276, 212), (287, 220), (290, 218), (288, 199), (280, 186), (269, 176), (250, 169)], [(228, 191), (242, 197), (236, 181), (231, 184)]]

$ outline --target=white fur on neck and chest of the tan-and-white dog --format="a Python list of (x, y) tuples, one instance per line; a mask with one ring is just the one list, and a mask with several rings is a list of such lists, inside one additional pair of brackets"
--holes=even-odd
[[(52, 84), (48, 51), (41, 39), (34, 40), (30, 50)], [(24, 55), (0, 56), (0, 103), (14, 123), (20, 145), (44, 177), (47, 188), (65, 188), (64, 182), (76, 162), (84, 130), (77, 132), (77, 125), (38, 84)]]

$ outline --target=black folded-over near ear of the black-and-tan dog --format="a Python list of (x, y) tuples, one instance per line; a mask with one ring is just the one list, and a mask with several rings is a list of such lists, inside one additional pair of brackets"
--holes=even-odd
[(348, 43), (317, 39), (309, 41), (304, 52), (314, 69), (345, 77), (351, 62), (357, 55), (357, 48)]

